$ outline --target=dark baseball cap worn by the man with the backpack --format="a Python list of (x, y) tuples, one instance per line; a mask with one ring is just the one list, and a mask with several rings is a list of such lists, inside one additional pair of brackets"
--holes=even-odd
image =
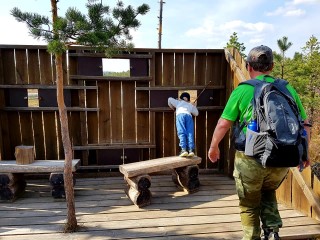
[(273, 54), (271, 48), (261, 45), (254, 47), (248, 54), (247, 62), (249, 63), (273, 63)]

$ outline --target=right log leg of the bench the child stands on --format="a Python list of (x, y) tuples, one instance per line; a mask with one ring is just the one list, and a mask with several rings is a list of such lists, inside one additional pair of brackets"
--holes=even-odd
[(197, 192), (200, 187), (198, 165), (175, 168), (172, 172), (172, 181), (188, 193)]

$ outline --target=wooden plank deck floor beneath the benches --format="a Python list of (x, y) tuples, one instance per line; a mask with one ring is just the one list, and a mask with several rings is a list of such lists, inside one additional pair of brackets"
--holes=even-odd
[[(48, 180), (29, 180), (15, 202), (0, 201), (0, 239), (241, 239), (234, 182), (200, 174), (200, 191), (176, 189), (169, 175), (152, 176), (152, 204), (139, 209), (124, 193), (123, 177), (78, 178), (76, 212), (80, 230), (62, 233), (66, 203), (50, 196)], [(315, 239), (319, 222), (280, 205), (282, 239)]]

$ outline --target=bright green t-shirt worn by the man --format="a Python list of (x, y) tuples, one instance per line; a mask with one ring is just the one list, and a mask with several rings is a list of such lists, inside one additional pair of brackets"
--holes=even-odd
[[(267, 82), (274, 82), (274, 78), (268, 75), (260, 75), (256, 77), (259, 80), (265, 80)], [(307, 118), (307, 114), (302, 106), (301, 100), (296, 92), (296, 90), (288, 84), (287, 89), (291, 93), (293, 99), (296, 101), (302, 120)], [(240, 120), (240, 123), (245, 119), (247, 122), (251, 120), (252, 115), (252, 105), (250, 104), (254, 95), (254, 87), (249, 84), (242, 84), (233, 90), (231, 96), (225, 106), (221, 118), (236, 121)], [(245, 131), (245, 129), (244, 129)]]

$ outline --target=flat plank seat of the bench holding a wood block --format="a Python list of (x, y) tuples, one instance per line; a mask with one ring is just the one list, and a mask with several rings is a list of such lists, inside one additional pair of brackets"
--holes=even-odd
[[(72, 160), (72, 171), (78, 168), (80, 159)], [(64, 160), (36, 160), (26, 165), (16, 164), (15, 160), (0, 161), (1, 173), (52, 173), (63, 172)]]

